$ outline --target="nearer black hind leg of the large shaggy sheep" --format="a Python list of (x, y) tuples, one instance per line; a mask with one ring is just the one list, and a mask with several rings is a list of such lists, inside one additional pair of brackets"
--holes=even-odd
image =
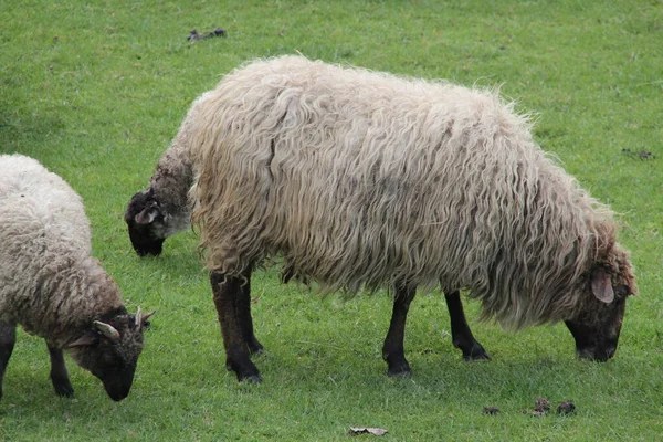
[[(262, 378), (257, 368), (251, 361), (249, 346), (244, 340), (245, 324), (242, 326), (242, 319), (251, 317), (251, 312), (245, 311), (245, 296), (242, 285), (246, 283), (245, 278), (236, 276), (227, 276), (220, 272), (210, 273), (210, 283), (214, 294), (214, 304), (221, 325), (221, 335), (225, 348), (225, 367), (235, 372), (238, 380), (260, 383)], [(249, 292), (249, 291), (246, 291)], [(249, 293), (249, 298), (251, 294)], [(240, 299), (243, 299), (240, 302)], [(249, 299), (251, 302), (251, 299)], [(240, 305), (243, 312), (240, 314)]]

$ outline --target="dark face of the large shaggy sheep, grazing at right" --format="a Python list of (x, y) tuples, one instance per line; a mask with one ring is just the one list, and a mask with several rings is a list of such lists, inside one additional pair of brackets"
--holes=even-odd
[(612, 285), (602, 271), (593, 272), (591, 292), (578, 315), (565, 323), (576, 339), (578, 356), (603, 362), (617, 351), (627, 297), (633, 292), (629, 285)]

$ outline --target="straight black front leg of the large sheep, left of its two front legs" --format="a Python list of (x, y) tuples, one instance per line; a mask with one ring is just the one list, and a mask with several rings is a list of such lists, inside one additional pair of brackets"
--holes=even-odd
[(407, 376), (411, 372), (406, 360), (403, 339), (408, 311), (415, 293), (417, 287), (399, 286), (393, 294), (391, 323), (382, 346), (382, 359), (387, 361), (389, 376)]

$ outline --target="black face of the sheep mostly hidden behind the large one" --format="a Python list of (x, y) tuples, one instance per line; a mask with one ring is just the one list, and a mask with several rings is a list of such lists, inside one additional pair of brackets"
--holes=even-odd
[(157, 256), (161, 253), (166, 239), (166, 220), (154, 189), (138, 192), (131, 198), (125, 212), (125, 221), (131, 245), (139, 256)]

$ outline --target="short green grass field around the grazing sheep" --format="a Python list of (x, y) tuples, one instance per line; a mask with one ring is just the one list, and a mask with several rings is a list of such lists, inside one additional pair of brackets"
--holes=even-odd
[[(0, 152), (38, 158), (83, 196), (94, 253), (127, 305), (158, 312), (119, 403), (72, 361), (76, 399), (57, 398), (43, 341), (21, 333), (0, 440), (345, 440), (351, 425), (385, 428), (393, 441), (661, 439), (660, 0), (3, 0), (0, 22)], [(217, 27), (227, 38), (187, 40)], [(406, 338), (413, 376), (391, 379), (380, 357), (387, 295), (319, 298), (267, 270), (255, 274), (253, 307), (264, 382), (239, 385), (224, 368), (196, 235), (138, 259), (123, 213), (194, 97), (249, 59), (295, 52), (501, 86), (536, 114), (540, 145), (620, 213), (641, 293), (629, 301), (617, 357), (576, 359), (564, 325), (514, 335), (473, 323), (493, 360), (466, 364), (443, 296), (420, 293)], [(477, 305), (466, 308), (475, 318)], [(571, 399), (577, 413), (523, 414), (539, 396), (554, 407)], [(487, 406), (501, 412), (482, 414)]]

